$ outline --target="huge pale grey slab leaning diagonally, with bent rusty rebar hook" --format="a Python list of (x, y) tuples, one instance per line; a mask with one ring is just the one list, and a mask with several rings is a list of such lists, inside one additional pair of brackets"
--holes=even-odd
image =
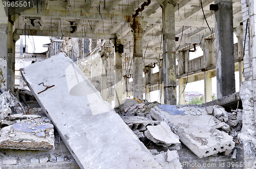
[[(60, 53), (21, 72), (80, 168), (149, 168), (157, 163), (70, 58)], [(45, 90), (42, 82), (54, 87)]]

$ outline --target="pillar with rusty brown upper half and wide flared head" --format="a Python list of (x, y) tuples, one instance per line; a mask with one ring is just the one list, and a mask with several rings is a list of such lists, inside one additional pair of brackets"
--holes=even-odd
[(133, 97), (137, 99), (143, 99), (143, 46), (142, 36), (143, 29), (146, 26), (146, 22), (143, 21), (142, 17), (134, 17), (131, 27), (134, 32), (134, 62), (133, 62)]

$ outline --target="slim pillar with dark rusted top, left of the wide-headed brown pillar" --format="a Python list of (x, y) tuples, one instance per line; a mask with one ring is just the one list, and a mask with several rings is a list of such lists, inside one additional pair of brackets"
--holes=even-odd
[(117, 50), (121, 45), (120, 40), (116, 40), (117, 45), (115, 51), (115, 105), (119, 106), (123, 102), (123, 86), (122, 86), (122, 53)]

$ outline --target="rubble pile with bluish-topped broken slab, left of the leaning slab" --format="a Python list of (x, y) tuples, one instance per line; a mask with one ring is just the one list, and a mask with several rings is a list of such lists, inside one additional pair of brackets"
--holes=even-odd
[(0, 148), (53, 150), (53, 124), (46, 116), (35, 115), (38, 108), (23, 107), (10, 92), (0, 95)]

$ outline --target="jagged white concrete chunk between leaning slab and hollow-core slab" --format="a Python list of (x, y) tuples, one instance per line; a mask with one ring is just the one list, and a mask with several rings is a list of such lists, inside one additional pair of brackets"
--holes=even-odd
[(147, 126), (146, 128), (145, 136), (157, 145), (169, 147), (172, 150), (180, 149), (179, 137), (172, 132), (165, 122), (161, 122), (157, 126)]

